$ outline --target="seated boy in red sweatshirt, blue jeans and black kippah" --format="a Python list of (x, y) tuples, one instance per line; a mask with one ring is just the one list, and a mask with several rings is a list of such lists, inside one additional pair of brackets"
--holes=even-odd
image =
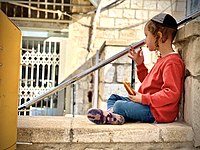
[(108, 110), (90, 109), (88, 119), (95, 124), (113, 125), (175, 121), (184, 79), (183, 61), (172, 48), (176, 33), (176, 20), (169, 14), (161, 13), (149, 20), (144, 28), (145, 43), (150, 51), (159, 54), (156, 64), (148, 73), (142, 50), (135, 52), (131, 48), (129, 58), (135, 61), (141, 82), (138, 92), (128, 97), (112, 94)]

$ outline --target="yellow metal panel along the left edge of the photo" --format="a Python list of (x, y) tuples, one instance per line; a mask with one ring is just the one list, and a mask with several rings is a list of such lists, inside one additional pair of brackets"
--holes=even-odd
[(0, 150), (16, 149), (20, 30), (0, 10)]

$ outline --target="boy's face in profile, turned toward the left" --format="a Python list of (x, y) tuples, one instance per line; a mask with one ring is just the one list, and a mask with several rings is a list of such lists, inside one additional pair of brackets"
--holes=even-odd
[(145, 43), (149, 51), (155, 51), (155, 37), (153, 34), (148, 30), (147, 26), (144, 28), (144, 34), (146, 36)]

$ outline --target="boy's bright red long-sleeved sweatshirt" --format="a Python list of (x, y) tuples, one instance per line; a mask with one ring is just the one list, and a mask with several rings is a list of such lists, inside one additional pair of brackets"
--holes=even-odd
[(144, 64), (138, 65), (137, 75), (142, 104), (150, 106), (156, 122), (174, 121), (184, 81), (184, 63), (178, 53), (159, 58), (149, 73)]

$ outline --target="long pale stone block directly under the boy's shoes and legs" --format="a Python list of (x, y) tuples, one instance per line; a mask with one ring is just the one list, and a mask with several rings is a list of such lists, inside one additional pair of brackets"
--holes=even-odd
[[(145, 123), (121, 125), (96, 125), (86, 117), (73, 119), (72, 142), (83, 143), (123, 143), (123, 142), (160, 142), (159, 129)], [(126, 129), (126, 130), (124, 130)]]

